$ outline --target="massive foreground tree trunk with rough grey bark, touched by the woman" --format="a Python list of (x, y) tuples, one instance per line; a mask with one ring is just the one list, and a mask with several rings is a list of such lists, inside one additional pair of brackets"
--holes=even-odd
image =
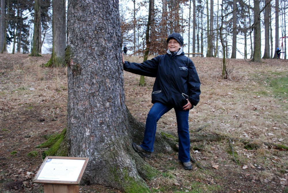
[(82, 182), (150, 192), (143, 178), (158, 171), (132, 149), (144, 125), (125, 106), (118, 1), (69, 1), (67, 31), (66, 140), (69, 156), (90, 158)]

